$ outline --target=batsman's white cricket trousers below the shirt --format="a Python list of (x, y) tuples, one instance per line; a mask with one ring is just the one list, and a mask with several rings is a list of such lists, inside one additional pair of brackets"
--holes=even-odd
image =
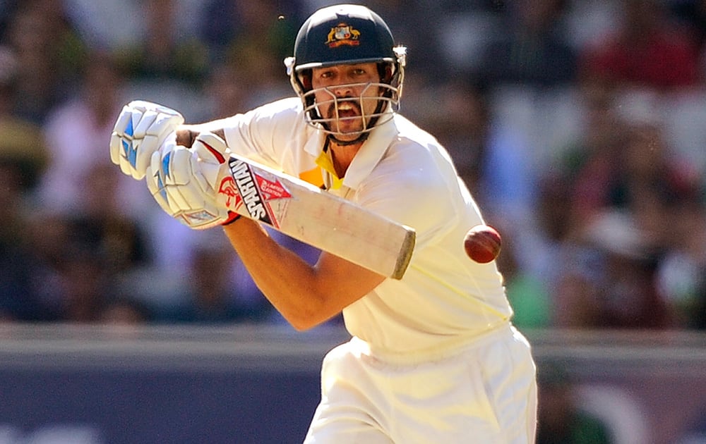
[(510, 324), (445, 357), (374, 356), (353, 338), (328, 352), (305, 444), (532, 444), (536, 369)]

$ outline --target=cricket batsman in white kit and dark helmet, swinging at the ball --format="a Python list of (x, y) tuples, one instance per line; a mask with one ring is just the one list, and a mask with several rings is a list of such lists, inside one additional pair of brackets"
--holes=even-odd
[[(484, 221), (448, 152), (397, 112), (405, 58), (369, 8), (321, 8), (285, 60), (297, 97), (190, 125), (177, 111), (131, 102), (115, 125), (112, 161), (146, 178), (167, 213), (192, 228), (220, 227), (297, 330), (342, 312), (351, 339), (323, 360), (304, 443), (534, 443), (530, 345), (513, 327), (496, 262), (465, 254), (465, 233)], [(312, 266), (229, 211), (234, 192), (213, 178), (230, 154), (414, 228), (404, 276), (325, 251)]]

